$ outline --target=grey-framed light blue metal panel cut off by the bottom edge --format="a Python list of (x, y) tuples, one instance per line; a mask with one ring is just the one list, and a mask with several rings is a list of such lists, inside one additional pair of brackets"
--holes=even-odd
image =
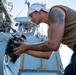
[(62, 75), (59, 70), (20, 70), (18, 75)]

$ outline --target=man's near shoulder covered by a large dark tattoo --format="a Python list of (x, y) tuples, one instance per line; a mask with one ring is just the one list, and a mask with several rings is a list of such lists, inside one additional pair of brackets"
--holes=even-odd
[(54, 6), (50, 9), (48, 15), (49, 25), (50, 24), (64, 24), (65, 23), (65, 12), (57, 7)]

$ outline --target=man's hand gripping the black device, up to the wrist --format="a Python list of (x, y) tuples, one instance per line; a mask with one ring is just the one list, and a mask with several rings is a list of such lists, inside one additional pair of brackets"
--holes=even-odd
[(25, 39), (22, 38), (22, 41), (14, 43), (19, 45), (18, 47), (13, 49), (15, 55), (21, 55), (22, 53), (25, 53), (27, 47), (25, 44)]

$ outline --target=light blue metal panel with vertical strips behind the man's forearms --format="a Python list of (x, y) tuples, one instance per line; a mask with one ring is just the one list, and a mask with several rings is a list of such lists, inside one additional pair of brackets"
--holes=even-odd
[[(32, 40), (31, 40), (32, 39)], [(46, 37), (27, 36), (28, 44), (41, 42), (41, 39), (46, 40)], [(24, 60), (23, 60), (23, 59)], [(36, 70), (64, 70), (59, 56), (59, 51), (53, 52), (49, 59), (36, 58), (28, 54), (22, 56), (23, 68), (20, 69), (36, 69)], [(22, 63), (22, 61), (21, 61)]]

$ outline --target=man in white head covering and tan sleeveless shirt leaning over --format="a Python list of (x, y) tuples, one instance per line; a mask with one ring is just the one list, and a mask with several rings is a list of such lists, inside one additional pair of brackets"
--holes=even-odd
[(48, 39), (32, 45), (26, 44), (24, 40), (16, 42), (20, 46), (14, 49), (14, 53), (19, 55), (30, 54), (29, 51), (57, 51), (63, 43), (74, 50), (71, 63), (65, 69), (64, 75), (76, 75), (76, 11), (66, 6), (56, 5), (48, 12), (43, 4), (34, 3), (29, 7), (28, 15), (37, 25), (42, 22), (48, 24)]

